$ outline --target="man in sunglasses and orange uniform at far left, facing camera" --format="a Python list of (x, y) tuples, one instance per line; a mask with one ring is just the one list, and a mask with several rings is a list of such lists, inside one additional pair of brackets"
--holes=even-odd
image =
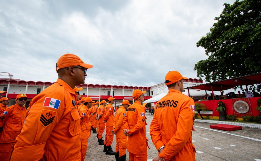
[[(11, 155), (11, 147), (15, 145), (15, 139), (20, 134), (26, 117), (24, 107), (27, 96), (18, 94), (16, 104), (4, 109), (0, 115), (0, 160), (8, 161)], [(1, 133), (2, 132), (2, 133)]]

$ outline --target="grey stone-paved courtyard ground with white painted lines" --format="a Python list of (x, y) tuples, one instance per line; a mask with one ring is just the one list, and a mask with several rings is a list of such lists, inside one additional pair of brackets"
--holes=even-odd
[[(158, 156), (158, 151), (153, 145), (150, 135), (149, 126), (153, 115), (146, 113), (146, 131), (149, 140), (148, 160), (152, 160)], [(209, 128), (210, 123), (196, 122), (193, 131), (193, 144), (197, 153), (198, 161), (238, 161), (238, 160), (256, 160), (261, 161), (261, 129), (245, 128), (237, 131), (222, 131)], [(104, 138), (105, 132), (103, 133)], [(96, 134), (91, 133), (89, 138), (87, 154), (85, 161), (112, 161), (115, 160), (114, 155), (106, 155), (103, 153), (103, 146), (98, 145)], [(116, 138), (114, 136), (112, 150), (115, 151)], [(129, 160), (128, 152), (126, 160)]]

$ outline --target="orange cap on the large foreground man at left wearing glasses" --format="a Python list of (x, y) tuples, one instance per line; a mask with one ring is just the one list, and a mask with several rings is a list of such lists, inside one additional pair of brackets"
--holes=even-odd
[(93, 65), (85, 64), (77, 55), (74, 54), (64, 54), (62, 55), (56, 63), (56, 72), (64, 67), (82, 66), (86, 69), (92, 68)]

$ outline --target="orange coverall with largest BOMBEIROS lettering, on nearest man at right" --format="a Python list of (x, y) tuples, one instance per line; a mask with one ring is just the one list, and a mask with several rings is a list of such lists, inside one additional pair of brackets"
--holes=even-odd
[(150, 136), (158, 150), (164, 150), (159, 157), (167, 160), (195, 161), (195, 146), (192, 144), (195, 103), (193, 99), (176, 89), (155, 105), (155, 113), (150, 124)]

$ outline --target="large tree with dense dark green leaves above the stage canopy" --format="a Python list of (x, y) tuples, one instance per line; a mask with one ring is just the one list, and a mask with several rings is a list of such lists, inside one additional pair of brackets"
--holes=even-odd
[(261, 72), (261, 1), (224, 6), (218, 22), (197, 42), (208, 59), (196, 63), (195, 70), (208, 82)]

